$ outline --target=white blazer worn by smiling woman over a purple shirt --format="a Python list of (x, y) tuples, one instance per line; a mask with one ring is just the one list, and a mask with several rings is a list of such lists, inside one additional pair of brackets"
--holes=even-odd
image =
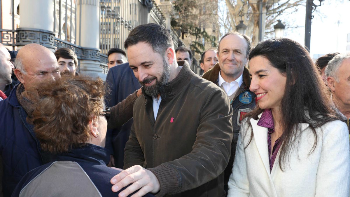
[[(317, 145), (310, 155), (315, 138), (309, 124), (300, 123), (299, 149), (292, 152), (284, 171), (278, 152), (270, 173), (267, 128), (258, 126), (258, 120), (249, 120), (251, 128), (244, 120), (240, 129), (228, 197), (349, 197), (350, 148), (344, 122), (317, 128)], [(244, 149), (252, 130), (253, 139)]]

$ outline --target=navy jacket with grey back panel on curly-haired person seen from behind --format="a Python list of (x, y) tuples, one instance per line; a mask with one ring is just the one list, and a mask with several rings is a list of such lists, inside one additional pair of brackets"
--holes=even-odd
[(12, 196), (118, 196), (126, 187), (112, 191), (110, 179), (120, 171), (106, 166), (109, 159), (107, 149), (97, 145), (71, 149), (30, 171)]

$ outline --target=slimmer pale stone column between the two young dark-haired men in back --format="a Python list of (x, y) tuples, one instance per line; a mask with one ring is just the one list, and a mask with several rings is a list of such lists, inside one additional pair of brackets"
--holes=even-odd
[(77, 44), (82, 47), (80, 73), (106, 79), (100, 68), (99, 26), (100, 1), (77, 1)]

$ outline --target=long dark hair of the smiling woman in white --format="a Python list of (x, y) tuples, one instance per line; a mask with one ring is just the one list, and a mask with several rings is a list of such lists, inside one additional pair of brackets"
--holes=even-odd
[[(327, 96), (327, 89), (318, 74), (318, 70), (310, 58), (307, 50), (299, 43), (287, 39), (269, 39), (259, 42), (249, 54), (249, 60), (256, 56), (263, 56), (277, 68), (282, 75), (287, 76), (285, 93), (281, 101), (281, 135), (279, 164), (281, 170), (285, 168), (292, 151), (297, 150), (301, 139), (299, 123), (308, 123), (313, 131), (315, 141), (311, 154), (317, 144), (315, 128), (323, 124), (338, 120), (332, 101)], [(247, 118), (258, 119), (264, 109), (257, 107), (247, 114)], [(247, 121), (251, 128), (250, 121)], [(276, 124), (276, 123), (275, 123)], [(250, 144), (253, 133), (250, 136)], [(246, 148), (245, 147), (245, 148)]]

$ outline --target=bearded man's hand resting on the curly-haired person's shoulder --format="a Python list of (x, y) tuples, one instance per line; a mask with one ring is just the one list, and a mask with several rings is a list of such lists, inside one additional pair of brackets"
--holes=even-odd
[[(121, 170), (121, 169), (118, 169)], [(149, 170), (140, 165), (134, 165), (111, 179), (112, 191), (117, 192), (125, 186), (131, 184), (119, 193), (119, 197), (125, 197), (140, 189), (131, 197), (141, 197), (147, 193), (157, 193), (160, 190), (160, 184), (157, 177)]]

